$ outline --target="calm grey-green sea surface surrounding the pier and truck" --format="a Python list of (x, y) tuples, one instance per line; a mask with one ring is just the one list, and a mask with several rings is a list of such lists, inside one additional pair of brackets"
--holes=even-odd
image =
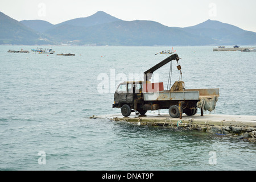
[[(1, 170), (256, 170), (256, 144), (236, 137), (89, 119), (119, 113), (112, 109), (113, 85), (159, 63), (168, 55), (155, 53), (170, 47), (7, 53), (20, 48), (36, 47), (0, 46)], [(174, 49), (187, 89), (220, 88), (211, 114), (256, 115), (256, 52)], [(165, 88), (169, 68), (154, 73)], [(172, 84), (178, 79), (174, 63)]]

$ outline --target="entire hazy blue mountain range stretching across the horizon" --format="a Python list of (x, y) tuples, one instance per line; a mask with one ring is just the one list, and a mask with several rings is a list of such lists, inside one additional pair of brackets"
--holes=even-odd
[(110, 46), (256, 45), (256, 33), (206, 20), (191, 27), (168, 27), (150, 20), (125, 21), (104, 11), (51, 24), (15, 19), (0, 12), (0, 44), (75, 44)]

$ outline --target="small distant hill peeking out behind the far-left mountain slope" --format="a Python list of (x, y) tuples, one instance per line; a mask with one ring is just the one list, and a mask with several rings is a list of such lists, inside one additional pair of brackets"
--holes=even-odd
[(35, 30), (37, 32), (44, 32), (50, 28), (53, 28), (53, 24), (44, 21), (44, 20), (22, 20), (20, 23), (24, 24), (25, 26)]

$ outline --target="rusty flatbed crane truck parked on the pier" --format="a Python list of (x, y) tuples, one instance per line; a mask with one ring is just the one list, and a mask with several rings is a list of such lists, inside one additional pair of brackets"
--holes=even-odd
[[(144, 72), (143, 81), (124, 81), (114, 93), (113, 108), (121, 108), (121, 113), (129, 117), (131, 112), (144, 115), (148, 110), (168, 109), (172, 118), (182, 118), (182, 114), (194, 115), (197, 108), (212, 111), (219, 97), (219, 89), (186, 89), (184, 81), (175, 81), (170, 89), (164, 90), (163, 82), (151, 83), (152, 73), (170, 61), (179, 63), (180, 57), (173, 54)], [(177, 65), (181, 73), (181, 66)], [(171, 83), (170, 83), (171, 85)]]

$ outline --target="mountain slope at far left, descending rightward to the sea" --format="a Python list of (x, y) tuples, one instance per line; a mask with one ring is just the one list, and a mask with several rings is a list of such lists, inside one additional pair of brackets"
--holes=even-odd
[(0, 12), (0, 44), (46, 44), (38, 32)]

